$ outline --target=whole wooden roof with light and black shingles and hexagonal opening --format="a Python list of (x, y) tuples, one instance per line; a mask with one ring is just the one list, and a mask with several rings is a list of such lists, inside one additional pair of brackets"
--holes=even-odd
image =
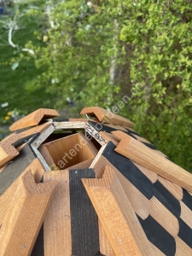
[(192, 255), (192, 175), (129, 119), (81, 114), (38, 109), (0, 143), (0, 256)]

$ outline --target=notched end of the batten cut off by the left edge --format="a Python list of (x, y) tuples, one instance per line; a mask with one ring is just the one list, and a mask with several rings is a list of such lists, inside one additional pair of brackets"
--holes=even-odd
[(12, 134), (3, 139), (0, 143), (0, 167), (13, 160), (19, 154), (19, 151), (13, 146), (13, 143), (22, 138), (19, 134)]

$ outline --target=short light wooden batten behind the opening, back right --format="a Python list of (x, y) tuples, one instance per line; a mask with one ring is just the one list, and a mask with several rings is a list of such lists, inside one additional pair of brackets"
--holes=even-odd
[(128, 127), (133, 126), (133, 123), (131, 122), (131, 120), (125, 119), (124, 117), (121, 117), (118, 114), (108, 112), (108, 110), (99, 108), (99, 107), (83, 108), (80, 114), (88, 114), (89, 116), (96, 116), (96, 118), (103, 123), (128, 126)]

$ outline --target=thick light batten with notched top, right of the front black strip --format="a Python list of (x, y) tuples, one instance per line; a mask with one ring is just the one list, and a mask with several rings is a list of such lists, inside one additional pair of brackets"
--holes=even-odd
[(154, 255), (113, 169), (102, 179), (82, 179), (116, 255)]

